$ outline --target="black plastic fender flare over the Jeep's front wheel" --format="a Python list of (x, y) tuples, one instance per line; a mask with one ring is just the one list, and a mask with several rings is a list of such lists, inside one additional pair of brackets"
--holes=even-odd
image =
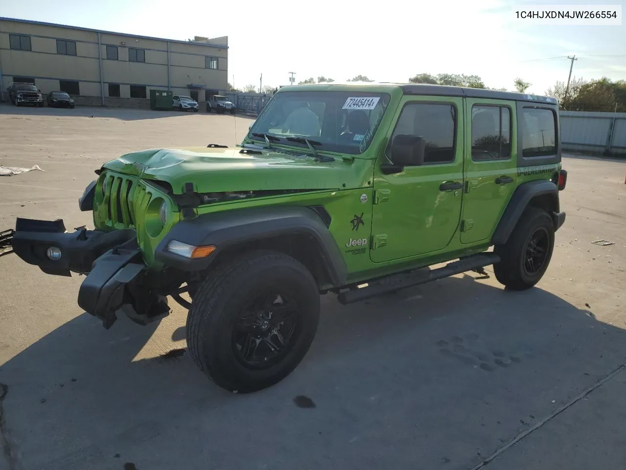
[[(317, 212), (304, 206), (253, 207), (183, 220), (158, 244), (155, 261), (182, 271), (202, 271), (226, 248), (293, 234), (310, 239), (322, 257), (332, 285), (343, 285), (347, 266), (341, 250)], [(208, 258), (188, 259), (167, 251), (172, 240), (193, 246), (213, 245), (216, 249)]]

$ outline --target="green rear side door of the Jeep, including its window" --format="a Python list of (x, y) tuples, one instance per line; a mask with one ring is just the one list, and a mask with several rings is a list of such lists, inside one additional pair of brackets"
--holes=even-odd
[(517, 180), (515, 102), (467, 98), (466, 155), (461, 243), (491, 237)]

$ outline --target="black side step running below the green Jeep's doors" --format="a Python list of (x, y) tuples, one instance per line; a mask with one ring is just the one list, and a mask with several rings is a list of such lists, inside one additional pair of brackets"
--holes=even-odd
[(446, 266), (443, 266), (443, 268), (424, 268), (408, 274), (394, 274), (380, 281), (374, 281), (374, 283), (369, 284), (367, 287), (360, 289), (353, 288), (348, 291), (340, 292), (339, 295), (337, 295), (337, 299), (339, 299), (342, 304), (346, 305), (348, 303), (366, 300), (377, 295), (425, 284), (430, 281), (436, 281), (437, 279), (447, 278), (448, 276), (461, 274), (465, 271), (471, 271), (472, 269), (483, 268), (498, 262), (500, 262), (500, 256), (495, 253), (473, 254), (467, 258), (448, 263)]

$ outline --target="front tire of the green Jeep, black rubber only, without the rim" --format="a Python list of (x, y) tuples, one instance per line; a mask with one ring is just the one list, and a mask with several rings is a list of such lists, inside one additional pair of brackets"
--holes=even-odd
[[(280, 362), (251, 368), (238, 355), (235, 324), (250, 299), (273, 288), (297, 299), (299, 333)], [(317, 331), (319, 308), (319, 288), (303, 264), (275, 251), (251, 251), (222, 261), (200, 285), (187, 316), (187, 347), (200, 370), (223, 389), (255, 392), (277, 384), (302, 361)]]

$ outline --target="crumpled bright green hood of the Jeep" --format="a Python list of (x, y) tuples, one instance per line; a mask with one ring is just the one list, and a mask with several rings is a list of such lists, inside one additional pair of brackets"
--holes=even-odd
[(347, 161), (336, 157), (334, 162), (316, 162), (297, 149), (255, 150), (248, 154), (241, 150), (241, 147), (143, 150), (111, 160), (103, 168), (168, 182), (174, 194), (185, 192), (188, 182), (199, 193), (320, 191), (363, 187), (372, 177), (369, 160)]

